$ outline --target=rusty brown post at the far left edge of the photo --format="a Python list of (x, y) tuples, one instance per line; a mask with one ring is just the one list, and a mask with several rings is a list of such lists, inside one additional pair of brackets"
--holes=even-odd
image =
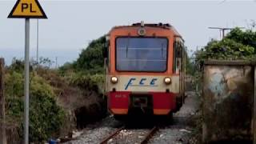
[(6, 144), (4, 66), (4, 59), (0, 58), (0, 144)]

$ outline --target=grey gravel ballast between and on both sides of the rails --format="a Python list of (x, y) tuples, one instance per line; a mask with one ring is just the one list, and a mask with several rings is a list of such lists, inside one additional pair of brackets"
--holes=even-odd
[[(159, 130), (152, 138), (150, 138), (149, 143), (159, 144), (159, 143), (187, 143), (190, 134), (194, 130), (193, 127), (187, 124), (191, 116), (195, 114), (198, 109), (197, 98), (193, 92), (186, 94), (185, 104), (182, 106), (181, 110), (174, 114), (173, 122), (170, 125), (160, 126)], [(112, 134), (118, 127), (122, 126), (122, 122), (114, 120), (113, 117), (107, 117), (98, 122), (97, 124), (87, 126), (86, 129), (82, 130), (83, 133), (76, 140), (66, 142), (66, 144), (84, 144), (84, 143), (99, 143), (104, 138)], [(111, 138), (107, 143), (139, 143), (150, 131), (150, 128), (129, 128), (121, 130), (118, 135)]]

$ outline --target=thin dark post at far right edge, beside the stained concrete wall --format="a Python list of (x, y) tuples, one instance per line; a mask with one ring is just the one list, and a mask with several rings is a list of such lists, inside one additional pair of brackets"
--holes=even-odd
[(253, 113), (253, 130), (254, 144), (256, 144), (256, 66), (254, 66), (254, 113)]

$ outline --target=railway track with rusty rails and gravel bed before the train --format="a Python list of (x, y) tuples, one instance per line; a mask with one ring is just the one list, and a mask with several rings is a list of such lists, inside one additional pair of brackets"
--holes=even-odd
[[(192, 113), (196, 113), (197, 97), (190, 96), (186, 98), (186, 105), (174, 114), (171, 124), (165, 124), (159, 120), (156, 122), (138, 124), (134, 122), (131, 125), (125, 125), (123, 122), (108, 117), (97, 126), (84, 130), (85, 133), (74, 141), (66, 142), (66, 144), (84, 144), (84, 143), (108, 143), (108, 144), (129, 144), (129, 143), (189, 143), (190, 132), (194, 130)], [(150, 127), (149, 127), (150, 126)], [(156, 133), (150, 132), (152, 126), (157, 126)], [(154, 131), (154, 130), (153, 130)], [(149, 134), (151, 133), (151, 134)], [(149, 135), (149, 136), (147, 136)], [(152, 136), (150, 138), (150, 136)], [(104, 139), (103, 139), (104, 138)], [(147, 139), (144, 141), (144, 139)], [(196, 142), (199, 138), (195, 138)]]

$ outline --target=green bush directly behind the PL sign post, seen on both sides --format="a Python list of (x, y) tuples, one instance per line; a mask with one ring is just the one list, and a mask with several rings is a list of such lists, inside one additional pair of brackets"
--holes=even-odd
[[(16, 123), (20, 137), (23, 130), (23, 76), (12, 71), (6, 74), (6, 119)], [(54, 90), (37, 74), (30, 74), (30, 142), (42, 142), (58, 134), (65, 114), (55, 100)]]

